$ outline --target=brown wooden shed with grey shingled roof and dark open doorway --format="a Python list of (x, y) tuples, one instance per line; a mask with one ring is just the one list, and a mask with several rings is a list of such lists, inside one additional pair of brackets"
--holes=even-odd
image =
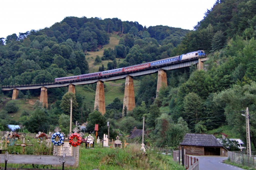
[(228, 150), (212, 134), (187, 133), (180, 146), (188, 155), (228, 156)]

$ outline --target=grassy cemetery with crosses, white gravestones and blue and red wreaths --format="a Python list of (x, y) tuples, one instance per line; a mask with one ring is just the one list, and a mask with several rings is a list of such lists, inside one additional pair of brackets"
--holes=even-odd
[(144, 133), (142, 143), (107, 133), (96, 137), (78, 127), (68, 134), (59, 127), (37, 134), (7, 131), (0, 138), (0, 169), (182, 169), (172, 156), (145, 146)]

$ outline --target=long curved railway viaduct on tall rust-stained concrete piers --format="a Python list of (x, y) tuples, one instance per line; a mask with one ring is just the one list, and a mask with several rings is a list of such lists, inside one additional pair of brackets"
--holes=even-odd
[(95, 102), (94, 109), (99, 108), (99, 111), (104, 114), (105, 110), (105, 95), (104, 95), (104, 81), (113, 81), (125, 78), (125, 89), (124, 89), (124, 102), (123, 109), (126, 106), (128, 111), (131, 111), (135, 107), (135, 97), (134, 97), (134, 87), (133, 87), (133, 77), (141, 76), (147, 74), (153, 74), (158, 72), (157, 78), (157, 88), (156, 88), (156, 97), (159, 92), (159, 89), (162, 86), (167, 86), (167, 75), (166, 70), (175, 70), (183, 67), (189, 67), (191, 65), (197, 64), (197, 69), (204, 69), (204, 61), (208, 60), (207, 55), (201, 57), (195, 57), (185, 61), (178, 61), (176, 63), (166, 64), (157, 67), (151, 67), (145, 70), (130, 72), (130, 73), (120, 73), (113, 76), (79, 80), (79, 81), (70, 81), (65, 83), (38, 83), (38, 84), (24, 84), (24, 85), (7, 85), (2, 86), (2, 90), (13, 90), (12, 99), (16, 99), (19, 93), (19, 90), (28, 90), (28, 89), (38, 89), (41, 88), (40, 99), (39, 101), (43, 103), (44, 106), (48, 107), (47, 99), (47, 88), (55, 87), (65, 87), (68, 86), (68, 92), (76, 93), (75, 86), (83, 84), (92, 84), (97, 83), (96, 93), (95, 93)]

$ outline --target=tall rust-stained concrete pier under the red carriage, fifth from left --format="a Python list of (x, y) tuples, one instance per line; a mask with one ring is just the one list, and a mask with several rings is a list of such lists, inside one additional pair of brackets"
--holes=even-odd
[(132, 111), (135, 107), (133, 78), (131, 76), (125, 77), (123, 110), (125, 106), (128, 111)]

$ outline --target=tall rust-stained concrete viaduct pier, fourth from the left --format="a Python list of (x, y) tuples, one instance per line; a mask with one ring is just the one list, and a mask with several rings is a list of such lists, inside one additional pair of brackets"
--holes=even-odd
[(105, 94), (104, 94), (104, 84), (102, 81), (97, 82), (96, 93), (95, 93), (95, 102), (94, 102), (94, 110), (98, 107), (99, 112), (102, 115), (105, 114)]

